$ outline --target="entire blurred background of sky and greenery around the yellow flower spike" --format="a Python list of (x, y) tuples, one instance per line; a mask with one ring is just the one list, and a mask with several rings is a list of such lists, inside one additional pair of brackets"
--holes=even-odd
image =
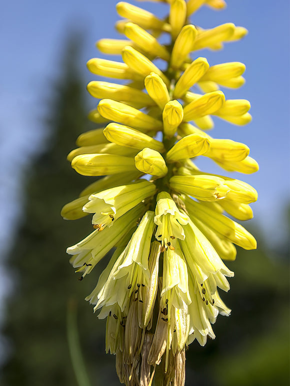
[[(66, 161), (76, 137), (93, 129), (97, 104), (85, 85), (85, 63), (104, 57), (94, 42), (121, 38), (116, 1), (6, 1), (0, 14), (0, 384), (76, 386), (67, 333), (75, 334), (91, 386), (118, 385), (115, 358), (104, 354), (105, 324), (84, 297), (104, 267), (79, 282), (65, 254), (89, 231), (87, 218), (67, 222), (61, 207), (92, 180)], [(163, 17), (163, 3), (134, 2)], [(238, 178), (259, 199), (245, 227), (256, 251), (238, 249), (232, 309), (219, 316), (214, 341), (187, 352), (186, 385), (289, 385), (289, 3), (228, 0), (221, 12), (203, 7), (191, 20), (203, 28), (234, 22), (249, 30), (222, 51), (198, 51), (211, 65), (246, 64), (245, 85), (223, 90), (251, 102), (252, 122), (215, 120), (212, 135), (246, 143), (259, 165)], [(118, 57), (111, 57), (120, 60)], [(204, 164), (205, 171), (218, 172)], [(220, 173), (220, 171), (219, 171)], [(235, 176), (235, 174), (233, 174)], [(67, 308), (69, 313), (67, 314)], [(68, 315), (68, 322), (67, 322)], [(72, 326), (72, 327), (71, 327)], [(70, 334), (70, 333), (69, 333)]]

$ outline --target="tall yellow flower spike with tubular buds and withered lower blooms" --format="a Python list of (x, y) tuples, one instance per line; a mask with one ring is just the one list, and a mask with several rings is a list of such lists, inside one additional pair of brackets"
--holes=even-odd
[[(252, 218), (255, 189), (193, 163), (203, 156), (226, 171), (258, 170), (246, 145), (205, 132), (215, 117), (224, 124), (250, 121), (249, 102), (223, 93), (243, 84), (244, 64), (211, 65), (203, 52), (198, 56), (246, 30), (233, 23), (206, 30), (190, 24), (199, 7), (221, 9), (223, 0), (165, 2), (164, 19), (119, 2), (125, 19), (116, 28), (124, 36), (97, 42), (119, 61), (88, 61), (102, 77), (87, 86), (101, 99), (89, 113), (101, 127), (81, 134), (67, 159), (78, 173), (98, 178), (61, 212), (68, 220), (92, 214), (92, 233), (67, 248), (79, 280), (110, 252), (86, 300), (107, 320), (106, 352), (116, 355), (127, 386), (149, 386), (157, 373), (164, 385), (184, 385), (185, 349), (195, 339), (201, 346), (213, 339), (217, 315), (230, 314), (219, 292), (229, 290), (233, 272), (223, 261), (235, 259), (234, 245), (256, 248), (254, 237), (227, 217)], [(159, 42), (162, 34), (170, 44)]]

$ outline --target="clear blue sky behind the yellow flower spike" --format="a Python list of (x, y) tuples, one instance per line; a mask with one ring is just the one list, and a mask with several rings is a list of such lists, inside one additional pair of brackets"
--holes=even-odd
[[(167, 13), (168, 7), (162, 3), (132, 3), (159, 16)], [(20, 213), (20, 181), (25, 178), (22, 165), (41, 143), (39, 122), (46, 111), (49, 83), (58, 74), (65, 37), (73, 28), (84, 32), (83, 71), (88, 80), (94, 79), (87, 73), (85, 63), (90, 57), (101, 56), (94, 47), (97, 39), (119, 36), (113, 27), (118, 19), (115, 4), (114, 0), (11, 0), (1, 6), (2, 248), (13, 237), (13, 226)], [(253, 120), (244, 127), (216, 120), (211, 135), (244, 142), (250, 147), (250, 155), (259, 162), (260, 171), (238, 178), (257, 189), (255, 218), (262, 224), (269, 243), (277, 241), (284, 232), (279, 226), (282, 208), (289, 200), (289, 3), (229, 0), (225, 10), (216, 12), (203, 7), (191, 20), (203, 28), (234, 22), (249, 30), (242, 41), (227, 44), (222, 51), (203, 50), (198, 55), (206, 56), (211, 65), (226, 61), (246, 64), (245, 85), (238, 90), (223, 91), (227, 98), (248, 99)]]

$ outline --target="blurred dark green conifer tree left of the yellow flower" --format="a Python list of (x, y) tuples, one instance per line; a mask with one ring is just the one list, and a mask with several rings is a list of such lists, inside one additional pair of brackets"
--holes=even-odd
[[(79, 63), (81, 41), (74, 33), (66, 43), (61, 74), (52, 84), (47, 117), (40, 125), (42, 148), (23, 170), (23, 214), (6, 258), (14, 288), (2, 329), (11, 349), (1, 371), (0, 384), (5, 386), (76, 385), (66, 340), (66, 309), (71, 296), (78, 304), (88, 368), (106, 369), (101, 366), (104, 325), (97, 325), (92, 307), (83, 300), (96, 284), (97, 272), (79, 282), (65, 253), (67, 246), (88, 234), (91, 225), (87, 218), (64, 221), (60, 217), (61, 207), (93, 182), (91, 177), (79, 176), (66, 161), (66, 154), (76, 147), (77, 136), (93, 128), (87, 120), (84, 71)], [(85, 68), (84, 60), (81, 65)], [(114, 371), (108, 373), (114, 375)]]

